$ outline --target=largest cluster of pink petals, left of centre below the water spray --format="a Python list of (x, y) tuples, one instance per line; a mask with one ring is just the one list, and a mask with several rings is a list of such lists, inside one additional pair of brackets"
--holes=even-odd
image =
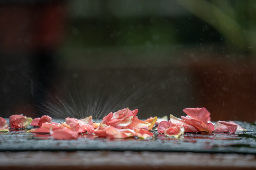
[(82, 133), (107, 138), (153, 137), (149, 130), (154, 127), (157, 117), (143, 121), (136, 117), (137, 112), (137, 109), (128, 108), (115, 113), (110, 112), (101, 123), (93, 123), (92, 116), (85, 119), (66, 118), (64, 123), (55, 123), (51, 117), (45, 115), (31, 123), (32, 126), (39, 128), (27, 132), (49, 133), (55, 139), (77, 139)]

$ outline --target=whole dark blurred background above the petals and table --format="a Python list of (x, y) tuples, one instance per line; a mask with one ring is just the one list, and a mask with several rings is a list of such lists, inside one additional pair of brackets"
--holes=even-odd
[(0, 116), (256, 121), (256, 0), (1, 0)]

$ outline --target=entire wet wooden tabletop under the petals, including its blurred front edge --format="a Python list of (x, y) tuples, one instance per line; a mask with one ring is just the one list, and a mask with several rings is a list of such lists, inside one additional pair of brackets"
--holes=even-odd
[[(62, 122), (64, 120), (55, 119), (53, 121)], [(93, 166), (90, 164), (91, 168), (93, 167), (94, 169), (97, 169), (95, 163), (99, 165), (98, 168), (101, 168), (100, 165), (105, 166), (112, 163), (110, 167), (114, 168), (112, 166), (118, 164), (122, 164), (122, 166), (129, 165), (128, 167), (147, 166), (146, 164), (150, 162), (151, 165), (155, 164), (154, 166), (161, 165), (169, 168), (174, 165), (176, 168), (184, 168), (185, 165), (185, 168), (188, 168), (187, 166), (199, 168), (199, 165), (200, 167), (210, 166), (215, 168), (218, 165), (218, 167), (227, 168), (236, 163), (239, 164), (239, 166), (235, 166), (237, 168), (256, 168), (256, 125), (238, 121), (237, 123), (241, 127), (246, 128), (247, 132), (236, 132), (235, 134), (185, 133), (179, 139), (175, 139), (165, 137), (163, 134), (157, 134), (157, 131), (153, 130), (152, 132), (155, 136), (147, 140), (137, 138), (106, 139), (91, 135), (83, 135), (77, 140), (55, 140), (48, 134), (27, 133), (27, 129), (10, 130), (9, 132), (0, 132), (0, 169), (13, 166), (15, 168), (13, 159), (19, 160), (19, 163), (15, 161), (19, 167), (21, 165), (24, 165), (24, 167), (28, 165), (32, 167), (37, 166), (37, 163), (40, 164), (39, 162), (42, 162), (40, 160), (42, 158), (44, 161), (48, 160), (48, 162), (51, 162), (49, 166), (44, 164), (49, 169), (53, 165), (57, 166), (58, 162), (64, 160), (66, 160), (65, 163), (69, 162), (70, 166), (74, 166), (73, 162), (77, 162), (76, 165), (80, 165), (77, 167), (78, 169), (84, 166), (82, 162), (87, 162), (87, 165), (94, 162)], [(86, 159), (87, 161), (82, 161), (79, 158), (81, 154), (83, 155), (81, 159)], [(26, 155), (29, 158), (26, 158)], [(47, 155), (51, 155), (52, 158)], [(91, 155), (94, 159), (88, 155)], [(111, 157), (112, 159), (110, 159)], [(124, 158), (127, 158), (129, 161), (125, 161)], [(188, 158), (185, 161), (186, 163), (181, 161), (184, 158)], [(220, 158), (222, 161), (218, 161)], [(33, 160), (34, 164), (31, 165), (31, 162), (26, 161), (29, 159)], [(90, 161), (90, 159), (93, 161)], [(204, 163), (201, 161), (191, 161), (195, 159), (205, 161)], [(98, 163), (97, 160), (99, 161)], [(148, 162), (148, 160), (151, 161)], [(162, 164), (159, 164), (159, 161)], [(230, 163), (228, 163), (229, 161)], [(172, 165), (170, 162), (172, 162)], [(229, 166), (227, 166), (228, 164)], [(90, 168), (90, 166), (88, 167)], [(133, 168), (136, 169), (136, 167)]]

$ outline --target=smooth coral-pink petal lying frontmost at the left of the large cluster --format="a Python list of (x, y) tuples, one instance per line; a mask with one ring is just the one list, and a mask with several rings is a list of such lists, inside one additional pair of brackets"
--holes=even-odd
[(70, 140), (70, 139), (77, 139), (78, 138), (78, 133), (73, 132), (72, 130), (64, 127), (61, 129), (57, 129), (52, 133), (52, 136), (55, 139), (66, 139), (66, 140)]

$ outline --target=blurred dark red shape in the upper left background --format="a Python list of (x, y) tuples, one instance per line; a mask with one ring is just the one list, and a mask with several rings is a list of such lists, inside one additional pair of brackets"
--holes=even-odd
[(55, 49), (64, 37), (63, 0), (6, 2), (0, 5), (0, 52), (29, 54)]

